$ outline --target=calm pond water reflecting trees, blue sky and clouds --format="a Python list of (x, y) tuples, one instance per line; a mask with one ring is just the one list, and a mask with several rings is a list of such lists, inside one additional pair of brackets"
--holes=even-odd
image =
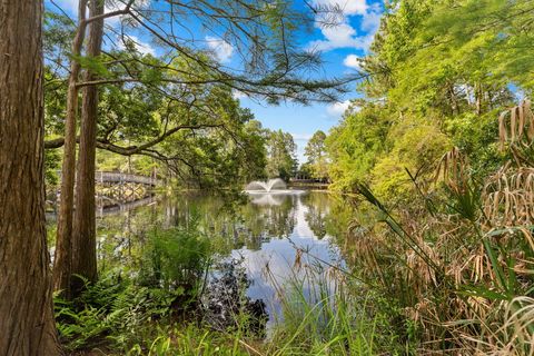
[[(136, 269), (150, 230), (191, 225), (212, 238), (221, 258), (241, 261), (251, 284), (247, 294), (263, 299), (269, 324), (280, 317), (288, 280), (313, 269), (328, 279), (343, 266), (338, 244), (350, 216), (343, 198), (325, 191), (255, 194), (236, 200), (200, 192), (155, 197), (128, 211), (97, 218), (99, 264)], [(303, 291), (313, 293), (309, 286)]]

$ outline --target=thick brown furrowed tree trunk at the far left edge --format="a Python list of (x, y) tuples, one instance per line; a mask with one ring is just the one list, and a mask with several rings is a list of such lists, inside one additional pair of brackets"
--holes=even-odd
[(59, 355), (44, 227), (42, 2), (0, 0), (0, 355)]

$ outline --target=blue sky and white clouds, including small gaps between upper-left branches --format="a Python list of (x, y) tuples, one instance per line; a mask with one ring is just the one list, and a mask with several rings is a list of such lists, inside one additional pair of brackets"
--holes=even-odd
[[(157, 0), (138, 0), (147, 6), (157, 3)], [(65, 11), (71, 16), (76, 14), (78, 0), (55, 0)], [(108, 0), (109, 2), (109, 0)], [(111, 0), (110, 3), (113, 1)], [(150, 4), (151, 2), (151, 4)], [(343, 76), (358, 70), (358, 58), (366, 55), (368, 47), (376, 32), (379, 18), (383, 12), (382, 0), (309, 0), (314, 6), (337, 6), (343, 9), (343, 19), (337, 27), (320, 28), (315, 24), (312, 33), (306, 33), (299, 41), (306, 49), (314, 48), (323, 53), (324, 66), (319, 71), (328, 76)], [(304, 1), (296, 0), (297, 7), (304, 7)], [(46, 0), (47, 8), (53, 9), (50, 0)], [(108, 9), (111, 11), (112, 8)], [(120, 19), (108, 19), (107, 24), (112, 28), (120, 23)], [(202, 46), (212, 50), (222, 66), (238, 68), (241, 63), (235, 47), (224, 41), (217, 33), (206, 33), (199, 23), (188, 23), (191, 36), (202, 39)], [(151, 55), (161, 55), (165, 49), (150, 42), (150, 39), (142, 33), (129, 32), (129, 37), (137, 43), (138, 50)], [(120, 46), (120, 44), (119, 44)], [(268, 106), (250, 98), (236, 93), (243, 106), (248, 107), (261, 121), (263, 126), (269, 129), (281, 129), (290, 132), (298, 145), (298, 158), (303, 162), (304, 147), (307, 140), (316, 130), (328, 131), (340, 119), (344, 110), (348, 107), (350, 99), (357, 97), (356, 85), (354, 92), (342, 98), (339, 102), (325, 105), (315, 103), (299, 106), (295, 103), (281, 103), (280, 106)]]

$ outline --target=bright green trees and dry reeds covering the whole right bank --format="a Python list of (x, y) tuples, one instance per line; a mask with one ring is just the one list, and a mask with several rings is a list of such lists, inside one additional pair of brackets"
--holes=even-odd
[[(532, 265), (532, 227), (513, 220), (532, 212), (514, 202), (530, 195), (517, 177), (531, 165), (508, 170), (515, 144), (500, 151), (497, 117), (532, 93), (533, 11), (530, 0), (392, 1), (363, 59), (362, 109), (326, 139), (333, 187), (376, 209), (348, 224), (347, 255), (404, 310), (390, 323), (418, 353), (532, 353), (532, 323), (518, 322), (531, 267), (517, 268)], [(526, 107), (512, 131), (526, 131)]]

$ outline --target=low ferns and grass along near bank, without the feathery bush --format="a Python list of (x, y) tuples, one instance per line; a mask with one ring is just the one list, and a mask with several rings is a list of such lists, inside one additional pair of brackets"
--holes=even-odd
[(116, 284), (113, 277), (89, 286), (80, 300), (57, 303), (59, 330), (69, 350), (106, 355), (348, 356), (403, 349), (376, 296), (356, 291), (364, 289), (343, 269), (297, 261), (283, 285), (267, 275), (281, 306), (267, 337), (250, 333), (243, 310), (233, 327), (215, 329), (202, 319), (176, 318), (169, 290)]

